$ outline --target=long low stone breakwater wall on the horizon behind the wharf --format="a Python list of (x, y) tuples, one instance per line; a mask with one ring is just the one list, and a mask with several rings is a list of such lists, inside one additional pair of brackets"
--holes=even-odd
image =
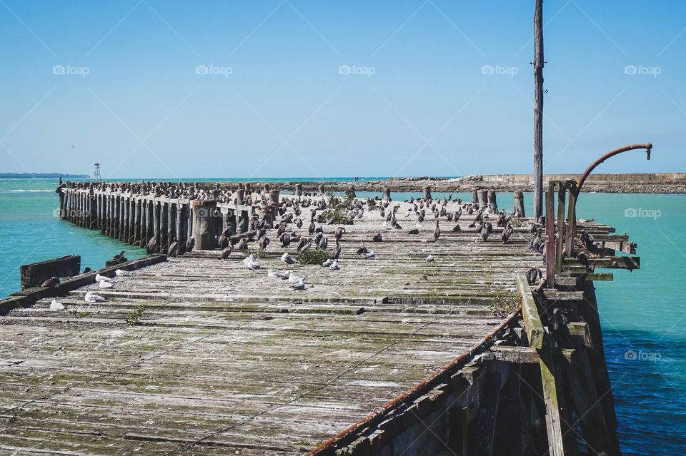
[[(576, 181), (579, 174), (546, 174), (544, 181)], [(221, 182), (222, 185), (235, 186), (235, 182)], [(436, 192), (471, 192), (482, 187), (495, 191), (533, 191), (531, 174), (477, 174), (462, 178), (390, 178), (378, 181), (290, 181), (270, 182), (274, 189), (289, 191), (294, 184), (302, 184), (304, 191), (355, 191), (382, 192), (384, 188), (394, 192), (422, 192), (431, 187)], [(686, 173), (594, 173), (584, 184), (585, 192), (597, 193), (686, 193)]]

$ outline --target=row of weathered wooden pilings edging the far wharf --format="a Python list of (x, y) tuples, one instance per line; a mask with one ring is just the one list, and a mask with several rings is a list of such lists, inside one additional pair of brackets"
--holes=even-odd
[[(240, 183), (234, 198), (228, 203), (215, 200), (194, 199), (193, 191), (199, 184), (192, 186), (189, 198), (166, 198), (164, 196), (137, 195), (116, 192), (109, 189), (98, 190), (94, 186), (60, 186), (59, 216), (76, 226), (100, 230), (104, 235), (121, 242), (143, 247), (154, 239), (153, 250), (166, 253), (175, 241), (185, 243), (193, 237), (196, 248), (207, 250), (214, 245), (214, 235), (229, 229), (232, 234), (238, 227), (247, 230), (249, 218), (258, 215), (272, 223), (276, 218), (279, 205), (279, 190), (262, 184), (262, 191), (269, 195), (267, 204), (253, 206), (245, 203), (246, 194), (253, 190), (250, 183)], [(217, 184), (218, 187), (218, 184)], [(294, 184), (293, 193), (302, 196), (302, 183)], [(324, 185), (317, 190), (324, 193)], [(432, 198), (431, 188), (425, 186), (424, 198)], [(354, 196), (355, 188), (350, 185), (349, 193)], [(495, 191), (476, 188), (472, 194), (473, 203), (488, 206), (492, 213), (498, 211)], [(382, 189), (382, 199), (391, 201), (391, 191), (387, 186)], [(515, 193), (517, 216), (525, 216), (522, 192)]]

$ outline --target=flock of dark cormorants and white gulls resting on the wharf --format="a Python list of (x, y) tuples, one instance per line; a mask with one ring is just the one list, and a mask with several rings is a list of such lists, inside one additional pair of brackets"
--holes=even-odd
[[(219, 203), (238, 203), (238, 191), (231, 191), (228, 188), (200, 188), (192, 183), (151, 183), (141, 181), (139, 183), (73, 183), (68, 182), (66, 186), (73, 188), (94, 188), (94, 190), (109, 190), (113, 192), (123, 192), (139, 195), (154, 195), (166, 196), (168, 198), (189, 198), (191, 200), (207, 200), (212, 199)], [(241, 202), (249, 205), (266, 206), (270, 203), (269, 193), (250, 192), (245, 191), (240, 196)], [(378, 213), (379, 217), (368, 216), (372, 220), (380, 221), (379, 230), (369, 238), (369, 243), (383, 243), (384, 231), (394, 231), (397, 233), (404, 233), (407, 236), (421, 236), (422, 223), (427, 221), (434, 221), (434, 230), (432, 235), (424, 239), (425, 241), (438, 242), (442, 236), (441, 223), (453, 223), (450, 230), (453, 232), (475, 233), (475, 240), (487, 242), (494, 233), (494, 226), (502, 228), (500, 230), (500, 240), (502, 243), (509, 243), (510, 238), (515, 233), (515, 228), (512, 225), (512, 218), (516, 216), (515, 210), (506, 213), (505, 211), (494, 211), (487, 205), (479, 205), (479, 203), (462, 201), (459, 198), (452, 199), (452, 195), (444, 198), (410, 198), (405, 201), (407, 204), (407, 213), (404, 214), (404, 219), (399, 219), (399, 209), (402, 207), (399, 203), (392, 203), (390, 201), (381, 201), (379, 198), (367, 198), (363, 201), (359, 198), (352, 200), (342, 200), (324, 196), (315, 196), (312, 193), (304, 193), (302, 196), (282, 197), (277, 205), (275, 211), (275, 220), (271, 218), (259, 218), (253, 216), (252, 218), (242, 218), (238, 223), (229, 222), (227, 228), (217, 236), (217, 248), (219, 248), (218, 258), (220, 260), (228, 260), (232, 258), (232, 254), (242, 255), (242, 263), (244, 268), (252, 271), (262, 269), (259, 261), (255, 258), (253, 253), (247, 254), (247, 251), (252, 247), (257, 252), (271, 248), (271, 245), (279, 245), (279, 248), (290, 248), (295, 246), (298, 253), (304, 250), (321, 249), (327, 252), (327, 260), (322, 263), (323, 268), (329, 270), (338, 270), (339, 258), (344, 256), (342, 239), (346, 234), (346, 224), (354, 224), (355, 221), (360, 221), (365, 213)], [(346, 201), (345, 205), (341, 201)], [(469, 215), (469, 223), (460, 224), (463, 214)], [(401, 225), (409, 225), (403, 228)], [(541, 222), (541, 221), (539, 221)], [(335, 227), (332, 227), (334, 225)], [(271, 231), (270, 231), (271, 230)], [(275, 231), (274, 231), (275, 230)], [(532, 223), (530, 226), (529, 247), (535, 253), (545, 253), (545, 240), (542, 238), (541, 223)], [(271, 237), (270, 237), (271, 236)], [(580, 240), (577, 240), (587, 250), (592, 251), (594, 245), (592, 238), (587, 233), (582, 233)], [(194, 238), (189, 238), (184, 243), (173, 242), (167, 249), (167, 254), (172, 257), (192, 253), (194, 249)], [(156, 239), (153, 237), (146, 243), (146, 249), (149, 253), (159, 251), (159, 246), (156, 245)], [(354, 252), (354, 255), (353, 255)], [(374, 250), (367, 248), (367, 246), (356, 245), (352, 250), (346, 249), (345, 255), (355, 256), (357, 258), (364, 258), (372, 260), (377, 258), (377, 253)], [(587, 253), (580, 253), (577, 260), (583, 261), (584, 255)], [(124, 252), (121, 252), (119, 259), (124, 258)], [(542, 255), (545, 264), (545, 255)], [(116, 256), (115, 258), (116, 259)], [(125, 260), (125, 258), (124, 258)], [(283, 253), (280, 260), (288, 268), (297, 262), (289, 253)], [(428, 255), (425, 260), (427, 263), (432, 263), (436, 260), (434, 255)], [(126, 271), (121, 271), (125, 273)], [(119, 275), (120, 270), (117, 270)], [(279, 278), (287, 280), (292, 288), (295, 290), (303, 290), (307, 288), (305, 280), (292, 270), (269, 270), (267, 275), (270, 278)], [(44, 286), (55, 286), (54, 280), (51, 278), (46, 280)], [(539, 283), (539, 288), (544, 288), (545, 280), (538, 268), (532, 268), (527, 272), (527, 280), (531, 285)], [(102, 275), (96, 275), (96, 283), (101, 289), (111, 288), (114, 286), (111, 278), (106, 278)], [(97, 302), (104, 300), (99, 295), (89, 291), (86, 293), (86, 302)], [(59, 304), (59, 303), (57, 303)]]

